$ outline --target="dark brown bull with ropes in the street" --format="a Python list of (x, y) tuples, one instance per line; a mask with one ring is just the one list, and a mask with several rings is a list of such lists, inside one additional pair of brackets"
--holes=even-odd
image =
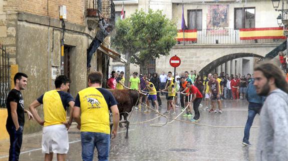
[[(129, 128), (129, 121), (127, 120), (128, 113), (132, 111), (133, 106), (136, 106), (139, 101), (140, 95), (142, 93), (132, 90), (132, 89), (109, 89), (109, 91), (113, 94), (116, 101), (118, 102), (117, 106), (119, 109), (120, 114), (120, 122), (119, 126), (122, 127), (122, 123), (126, 124), (126, 136), (125, 138), (128, 139), (128, 128)], [(122, 116), (124, 117), (124, 121), (122, 120)], [(112, 129), (113, 124), (110, 124), (110, 128)]]

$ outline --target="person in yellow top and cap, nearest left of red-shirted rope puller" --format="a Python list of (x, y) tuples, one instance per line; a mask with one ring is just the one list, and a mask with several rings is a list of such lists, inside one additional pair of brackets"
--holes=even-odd
[[(172, 73), (171, 73), (172, 74)], [(168, 102), (168, 106), (167, 106), (167, 111), (164, 114), (170, 114), (170, 106), (173, 108), (173, 113), (172, 115), (176, 115), (175, 112), (175, 105), (174, 105), (174, 99), (175, 99), (175, 95), (176, 95), (176, 90), (175, 90), (175, 85), (173, 83), (173, 79), (171, 77), (168, 77), (168, 84), (167, 87), (162, 91), (168, 91), (168, 98), (167, 98), (167, 102)]]

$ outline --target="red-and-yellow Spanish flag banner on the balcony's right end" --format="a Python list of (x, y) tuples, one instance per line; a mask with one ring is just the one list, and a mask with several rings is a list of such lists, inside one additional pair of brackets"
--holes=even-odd
[(240, 40), (285, 39), (282, 27), (241, 28)]

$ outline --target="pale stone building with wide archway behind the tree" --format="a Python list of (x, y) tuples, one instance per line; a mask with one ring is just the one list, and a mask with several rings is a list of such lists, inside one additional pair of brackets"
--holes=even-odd
[[(184, 8), (187, 29), (197, 30), (197, 40), (185, 41), (185, 45), (183, 41), (179, 41), (171, 49), (170, 55), (156, 59), (154, 70), (158, 73), (174, 71), (169, 65), (169, 59), (176, 54), (183, 60), (178, 68), (181, 72), (224, 71), (228, 74), (246, 75), (252, 73), (254, 61), (258, 60), (258, 57), (265, 56), (284, 41), (284, 39), (240, 40), (239, 38), (239, 28), (278, 27), (276, 17), (279, 12), (274, 10), (271, 0), (114, 0), (114, 3), (116, 15), (119, 15), (124, 3), (126, 17), (136, 9), (144, 11), (148, 11), (149, 8), (161, 9), (168, 18), (176, 22), (178, 29), (181, 29), (182, 7)], [(215, 26), (216, 21), (211, 22), (214, 9), (223, 6), (225, 9), (220, 9), (219, 12), (223, 14), (220, 18), (225, 24)], [(239, 54), (240, 57), (235, 59), (234, 54)], [(245, 57), (247, 54), (252, 56)], [(223, 64), (214, 63), (224, 57), (226, 61)], [(211, 67), (213, 64), (218, 66)], [(206, 71), (207, 66), (213, 70)], [(121, 68), (121, 64), (112, 64), (112, 68)], [(130, 71), (139, 71), (139, 67), (132, 64)]]

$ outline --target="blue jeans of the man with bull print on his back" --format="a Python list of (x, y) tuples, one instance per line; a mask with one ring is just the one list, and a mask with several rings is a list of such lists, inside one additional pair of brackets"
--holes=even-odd
[(104, 133), (81, 132), (82, 160), (93, 161), (94, 149), (98, 151), (99, 161), (108, 161), (110, 135)]

